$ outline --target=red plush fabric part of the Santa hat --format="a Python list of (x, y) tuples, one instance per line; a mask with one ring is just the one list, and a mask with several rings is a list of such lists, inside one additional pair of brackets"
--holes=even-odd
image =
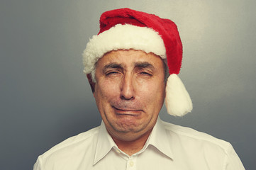
[(182, 65), (182, 41), (174, 22), (130, 8), (120, 8), (102, 13), (98, 35), (117, 24), (148, 27), (157, 31), (165, 43), (169, 74), (179, 74)]

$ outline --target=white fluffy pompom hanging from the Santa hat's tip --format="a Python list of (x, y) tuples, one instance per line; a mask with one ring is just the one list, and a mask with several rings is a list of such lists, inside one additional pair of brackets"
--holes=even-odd
[(174, 116), (182, 116), (192, 111), (189, 93), (177, 74), (171, 74), (167, 79), (165, 106), (169, 115)]

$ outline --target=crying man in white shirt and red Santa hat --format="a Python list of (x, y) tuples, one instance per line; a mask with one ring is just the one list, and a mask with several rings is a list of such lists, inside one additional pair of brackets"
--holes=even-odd
[(164, 101), (171, 115), (192, 109), (177, 77), (182, 42), (172, 21), (129, 8), (106, 11), (83, 56), (103, 121), (52, 147), (34, 170), (244, 169), (228, 142), (158, 118)]

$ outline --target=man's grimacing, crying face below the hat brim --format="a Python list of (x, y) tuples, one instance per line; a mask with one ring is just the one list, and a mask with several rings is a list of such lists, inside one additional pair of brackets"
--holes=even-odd
[(150, 132), (165, 99), (162, 59), (138, 50), (106, 53), (96, 64), (94, 97), (109, 134), (136, 140)]

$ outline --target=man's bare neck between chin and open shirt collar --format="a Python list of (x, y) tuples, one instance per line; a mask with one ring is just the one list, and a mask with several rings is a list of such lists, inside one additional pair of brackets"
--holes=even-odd
[(143, 149), (145, 142), (148, 140), (148, 137), (150, 136), (151, 132), (152, 132), (152, 129), (148, 130), (148, 132), (145, 132), (145, 134), (143, 134), (138, 139), (133, 141), (118, 140), (115, 137), (112, 137), (112, 138), (119, 149), (121, 149), (123, 152), (131, 156), (139, 152), (141, 149)]

